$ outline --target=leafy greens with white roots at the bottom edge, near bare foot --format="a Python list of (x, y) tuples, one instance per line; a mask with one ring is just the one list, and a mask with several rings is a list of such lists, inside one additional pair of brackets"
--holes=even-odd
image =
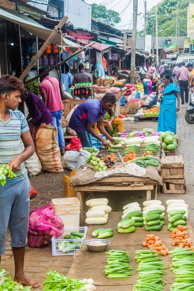
[(96, 287), (93, 285), (93, 279), (70, 279), (65, 277), (63, 274), (59, 274), (56, 271), (48, 270), (47, 280), (43, 283), (45, 286), (44, 291), (85, 291), (85, 290), (96, 290)]

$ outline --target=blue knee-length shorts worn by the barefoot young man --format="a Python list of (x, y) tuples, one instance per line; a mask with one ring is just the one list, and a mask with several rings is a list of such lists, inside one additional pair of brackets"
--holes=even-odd
[(11, 246), (27, 243), (30, 181), (28, 178), (0, 185), (0, 256), (5, 252), (7, 228), (11, 232)]

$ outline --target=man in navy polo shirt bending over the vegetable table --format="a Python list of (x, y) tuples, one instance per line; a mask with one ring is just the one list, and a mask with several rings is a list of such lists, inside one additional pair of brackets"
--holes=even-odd
[(110, 142), (115, 142), (115, 139), (108, 134), (103, 126), (105, 113), (110, 110), (115, 103), (115, 95), (113, 93), (107, 93), (102, 99), (91, 99), (82, 102), (74, 110), (69, 121), (69, 127), (77, 132), (82, 147), (92, 147), (90, 134), (100, 140), (103, 146), (109, 146), (108, 141), (95, 131), (95, 123), (97, 123), (99, 132), (110, 140)]

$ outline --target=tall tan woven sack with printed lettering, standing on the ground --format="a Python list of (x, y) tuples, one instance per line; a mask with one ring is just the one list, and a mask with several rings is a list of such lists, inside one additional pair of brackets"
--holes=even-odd
[(57, 129), (46, 124), (42, 124), (36, 133), (37, 155), (42, 169), (52, 173), (64, 172), (56, 136)]

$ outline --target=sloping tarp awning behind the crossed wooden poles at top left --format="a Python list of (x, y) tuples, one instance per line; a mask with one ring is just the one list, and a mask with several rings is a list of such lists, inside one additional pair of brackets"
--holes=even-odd
[[(41, 24), (37, 23), (36, 21), (32, 20), (28, 16), (25, 16), (19, 13), (16, 10), (9, 10), (9, 9), (2, 9), (0, 8), (0, 17), (6, 19), (8, 21), (14, 22), (17, 25), (21, 26), (23, 29), (27, 30), (28, 32), (38, 36), (41, 39), (47, 40), (52, 30), (42, 26)], [(52, 41), (57, 46), (66, 46), (71, 48), (71, 50), (77, 50), (78, 48), (82, 48), (81, 46), (75, 44), (74, 42), (62, 37), (61, 43), (61, 36), (56, 35)]]

